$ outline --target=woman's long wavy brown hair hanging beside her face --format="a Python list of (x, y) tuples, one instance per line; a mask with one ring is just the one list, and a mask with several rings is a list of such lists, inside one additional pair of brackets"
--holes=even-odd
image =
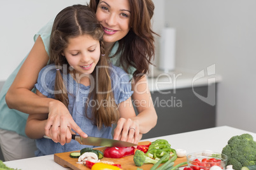
[[(90, 8), (96, 13), (99, 0), (90, 0)], [(130, 30), (128, 34), (120, 39), (117, 54), (121, 55), (120, 64), (125, 72), (129, 67), (134, 67), (135, 81), (138, 81), (143, 74), (149, 72), (149, 66), (155, 56), (153, 34), (159, 36), (152, 30), (150, 20), (153, 16), (155, 5), (152, 0), (129, 0), (131, 7)], [(114, 55), (114, 56), (115, 56)]]

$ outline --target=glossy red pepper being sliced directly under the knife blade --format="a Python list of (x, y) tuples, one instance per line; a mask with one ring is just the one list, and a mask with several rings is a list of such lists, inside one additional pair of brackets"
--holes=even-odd
[(106, 147), (104, 157), (121, 158), (134, 155), (134, 147)]

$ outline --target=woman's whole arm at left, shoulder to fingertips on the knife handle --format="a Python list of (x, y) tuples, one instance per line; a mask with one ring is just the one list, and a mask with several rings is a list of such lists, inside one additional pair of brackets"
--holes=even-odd
[[(48, 60), (43, 40), (39, 36), (6, 93), (6, 103), (9, 108), (27, 114), (49, 114), (45, 134), (50, 136), (53, 141), (58, 141), (57, 127), (59, 126), (63, 128), (69, 126), (86, 138), (87, 134), (83, 133), (75, 123), (63, 103), (52, 98), (42, 98), (31, 91), (36, 84), (39, 71), (45, 67)], [(66, 138), (61, 138), (60, 141), (66, 141)]]

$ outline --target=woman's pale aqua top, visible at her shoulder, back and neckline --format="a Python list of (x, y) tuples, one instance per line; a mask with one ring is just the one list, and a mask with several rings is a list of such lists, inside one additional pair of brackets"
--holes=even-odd
[[(45, 45), (45, 50), (49, 54), (49, 44), (50, 44), (50, 34), (52, 32), (52, 25), (53, 25), (54, 18), (50, 20), (50, 22), (46, 23), (44, 27), (39, 30), (39, 32), (34, 36), (34, 41), (38, 38), (38, 36), (41, 36), (41, 39), (43, 40), (43, 43)], [(111, 53), (115, 53), (118, 48), (118, 42), (115, 43), (115, 46), (112, 48)], [(25, 56), (24, 60), (18, 65), (18, 67), (11, 73), (11, 75), (8, 77), (6, 82), (4, 83), (4, 86), (0, 93), (0, 129), (5, 129), (8, 131), (15, 131), (16, 133), (26, 136), (25, 135), (25, 124), (27, 121), (28, 114), (24, 114), (23, 112), (20, 112), (15, 109), (10, 109), (6, 105), (5, 101), (5, 95), (10, 88), (13, 80), (15, 79), (15, 76), (18, 73), (18, 70), (20, 70), (20, 67), (24, 63), (27, 56)], [(111, 63), (113, 65), (116, 65), (120, 67), (118, 61), (120, 61), (120, 55), (115, 56), (114, 58), (111, 58)], [(122, 67), (120, 67), (122, 68)], [(132, 73), (134, 72), (134, 68), (129, 69), (129, 76), (131, 77)], [(34, 89), (32, 89), (33, 92)]]

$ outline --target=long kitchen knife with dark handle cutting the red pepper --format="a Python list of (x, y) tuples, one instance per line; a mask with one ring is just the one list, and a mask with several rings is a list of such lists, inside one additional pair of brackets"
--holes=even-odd
[[(44, 136), (44, 138), (49, 138), (48, 136)], [(134, 143), (130, 143), (127, 141), (120, 141), (120, 140), (111, 140), (107, 138), (97, 138), (88, 136), (87, 138), (83, 138), (79, 135), (72, 134), (72, 140), (78, 141), (78, 143), (82, 145), (92, 145), (96, 147), (133, 147), (137, 146)]]

